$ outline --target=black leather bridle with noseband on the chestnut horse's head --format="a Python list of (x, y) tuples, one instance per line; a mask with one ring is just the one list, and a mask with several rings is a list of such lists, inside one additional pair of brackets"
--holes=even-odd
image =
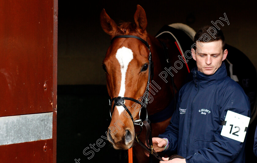
[[(113, 41), (116, 38), (136, 38), (136, 39), (140, 40), (141, 42), (143, 42), (143, 44), (145, 44), (147, 46), (148, 50), (149, 50), (149, 56), (148, 56), (148, 61), (149, 61), (148, 68), (149, 69), (148, 69), (147, 87), (146, 87), (146, 91), (145, 91), (146, 97), (144, 97), (144, 95), (145, 95), (145, 93), (144, 93), (142, 102), (140, 102), (139, 100), (130, 98), (130, 97), (114, 97), (110, 101), (110, 105), (112, 105), (112, 103), (114, 101), (113, 108), (110, 106), (110, 116), (112, 117), (112, 114), (114, 112), (115, 106), (123, 106), (125, 108), (126, 112), (128, 112), (128, 114), (129, 114), (129, 116), (130, 116), (130, 118), (131, 118), (131, 120), (133, 122), (133, 125), (135, 125), (135, 124), (136, 125), (140, 125), (140, 131), (136, 133), (136, 140), (145, 150), (147, 150), (149, 152), (149, 154), (150, 154), (150, 162), (152, 162), (152, 155), (154, 155), (160, 161), (163, 161), (162, 158), (158, 155), (158, 153), (156, 153), (155, 150), (153, 149), (150, 120), (148, 119), (147, 109), (146, 109), (146, 106), (147, 106), (148, 100), (149, 100), (148, 99), (148, 96), (149, 96), (149, 94), (148, 94), (149, 93), (149, 84), (150, 84), (150, 81), (151, 81), (151, 79), (153, 78), (153, 75), (154, 75), (154, 67), (153, 67), (153, 61), (151, 60), (152, 59), (152, 55), (151, 55), (150, 45), (145, 40), (143, 40), (142, 38), (140, 38), (138, 36), (133, 36), (133, 35), (115, 36), (111, 41)], [(140, 108), (140, 111), (139, 111), (139, 119), (136, 119), (134, 121), (131, 112), (128, 110), (128, 108), (124, 104), (125, 103), (124, 100), (131, 100), (131, 101), (141, 105), (141, 108)], [(145, 111), (146, 111), (146, 118), (143, 119), (143, 120), (140, 117), (142, 108), (144, 108)], [(142, 127), (143, 126), (146, 127), (146, 133), (147, 133), (146, 134), (146, 144), (147, 144), (147, 146), (143, 142), (140, 141), (140, 139), (138, 138), (138, 135), (137, 135), (138, 133), (140, 135), (140, 132), (142, 131)]]

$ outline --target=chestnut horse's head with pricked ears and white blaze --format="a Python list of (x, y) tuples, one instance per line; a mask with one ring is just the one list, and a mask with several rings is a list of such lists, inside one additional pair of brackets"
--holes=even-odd
[[(118, 26), (104, 9), (100, 16), (102, 28), (112, 40), (102, 63), (106, 72), (107, 90), (111, 99), (119, 97), (112, 100), (112, 120), (108, 127), (108, 139), (115, 149), (129, 149), (133, 145), (134, 120), (139, 119), (141, 108), (141, 101), (135, 100), (146, 92), (150, 75), (150, 49), (146, 43), (150, 42), (146, 32), (147, 19), (144, 9), (139, 5), (134, 20), (135, 24), (125, 22)], [(136, 38), (116, 37), (123, 35)]]

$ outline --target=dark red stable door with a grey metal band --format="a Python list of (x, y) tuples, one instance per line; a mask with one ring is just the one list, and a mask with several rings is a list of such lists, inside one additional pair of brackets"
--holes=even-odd
[(0, 4), (0, 162), (56, 162), (58, 0)]

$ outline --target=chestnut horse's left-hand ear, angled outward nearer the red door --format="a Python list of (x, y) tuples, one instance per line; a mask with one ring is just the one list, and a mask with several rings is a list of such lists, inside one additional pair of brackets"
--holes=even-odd
[(109, 15), (105, 12), (105, 9), (102, 9), (100, 14), (100, 22), (104, 32), (111, 36), (113, 36), (118, 30), (117, 24), (109, 17)]

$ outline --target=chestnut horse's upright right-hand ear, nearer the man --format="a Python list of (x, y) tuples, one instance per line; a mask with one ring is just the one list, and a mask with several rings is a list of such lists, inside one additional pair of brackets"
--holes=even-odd
[(136, 24), (136, 29), (142, 33), (145, 32), (147, 26), (147, 19), (145, 11), (143, 7), (141, 7), (140, 5), (137, 5), (134, 20)]

